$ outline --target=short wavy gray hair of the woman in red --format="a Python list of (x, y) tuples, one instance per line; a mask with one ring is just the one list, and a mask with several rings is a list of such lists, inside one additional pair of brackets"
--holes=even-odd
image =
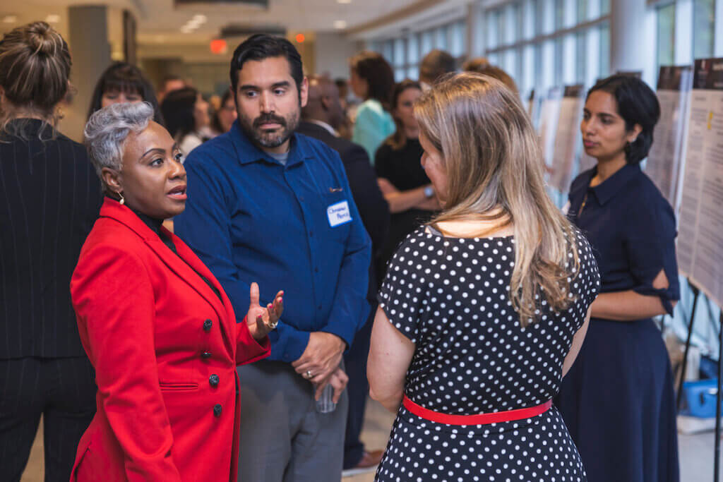
[(103, 168), (120, 171), (128, 134), (140, 134), (152, 120), (153, 107), (147, 102), (112, 104), (90, 116), (83, 132), (85, 147), (103, 189)]

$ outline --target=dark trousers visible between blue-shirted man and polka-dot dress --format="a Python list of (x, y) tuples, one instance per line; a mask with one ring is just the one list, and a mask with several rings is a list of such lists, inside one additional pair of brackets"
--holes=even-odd
[(361, 426), (364, 425), (364, 408), (367, 407), (369, 382), (367, 382), (367, 357), (369, 356), (369, 340), (372, 337), (372, 325), (377, 305), (372, 306), (367, 323), (356, 332), (351, 343), (344, 365), (349, 381), (346, 391), (349, 394), (349, 411), (346, 416), (346, 434), (344, 436), (344, 469), (354, 468), (364, 456), (364, 444), (359, 440)]

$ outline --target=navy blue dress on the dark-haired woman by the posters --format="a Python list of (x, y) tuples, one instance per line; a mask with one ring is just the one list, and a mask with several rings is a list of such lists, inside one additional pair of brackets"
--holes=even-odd
[[(672, 208), (639, 165), (591, 188), (596, 170), (573, 181), (568, 217), (593, 247), (601, 293), (659, 296), (672, 314), (671, 301), (680, 298)], [(660, 270), (666, 290), (652, 287)], [(652, 319), (592, 318), (555, 405), (589, 482), (679, 480), (672, 371)]]

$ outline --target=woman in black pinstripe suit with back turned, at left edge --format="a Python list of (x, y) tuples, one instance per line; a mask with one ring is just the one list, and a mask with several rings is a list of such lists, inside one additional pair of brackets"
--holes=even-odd
[(0, 41), (0, 478), (20, 481), (43, 417), (45, 480), (67, 482), (95, 413), (68, 289), (102, 194), (85, 147), (55, 129), (68, 45), (46, 22)]

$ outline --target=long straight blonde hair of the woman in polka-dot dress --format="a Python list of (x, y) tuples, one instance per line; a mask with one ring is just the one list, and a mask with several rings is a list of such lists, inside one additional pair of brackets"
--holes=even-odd
[(465, 72), (425, 92), (414, 106), (422, 135), (442, 154), (445, 210), (432, 223), (499, 220), (513, 226), (515, 268), (510, 302), (526, 327), (542, 298), (560, 312), (570, 305), (578, 271), (575, 234), (547, 196), (542, 153), (517, 95), (502, 82)]

